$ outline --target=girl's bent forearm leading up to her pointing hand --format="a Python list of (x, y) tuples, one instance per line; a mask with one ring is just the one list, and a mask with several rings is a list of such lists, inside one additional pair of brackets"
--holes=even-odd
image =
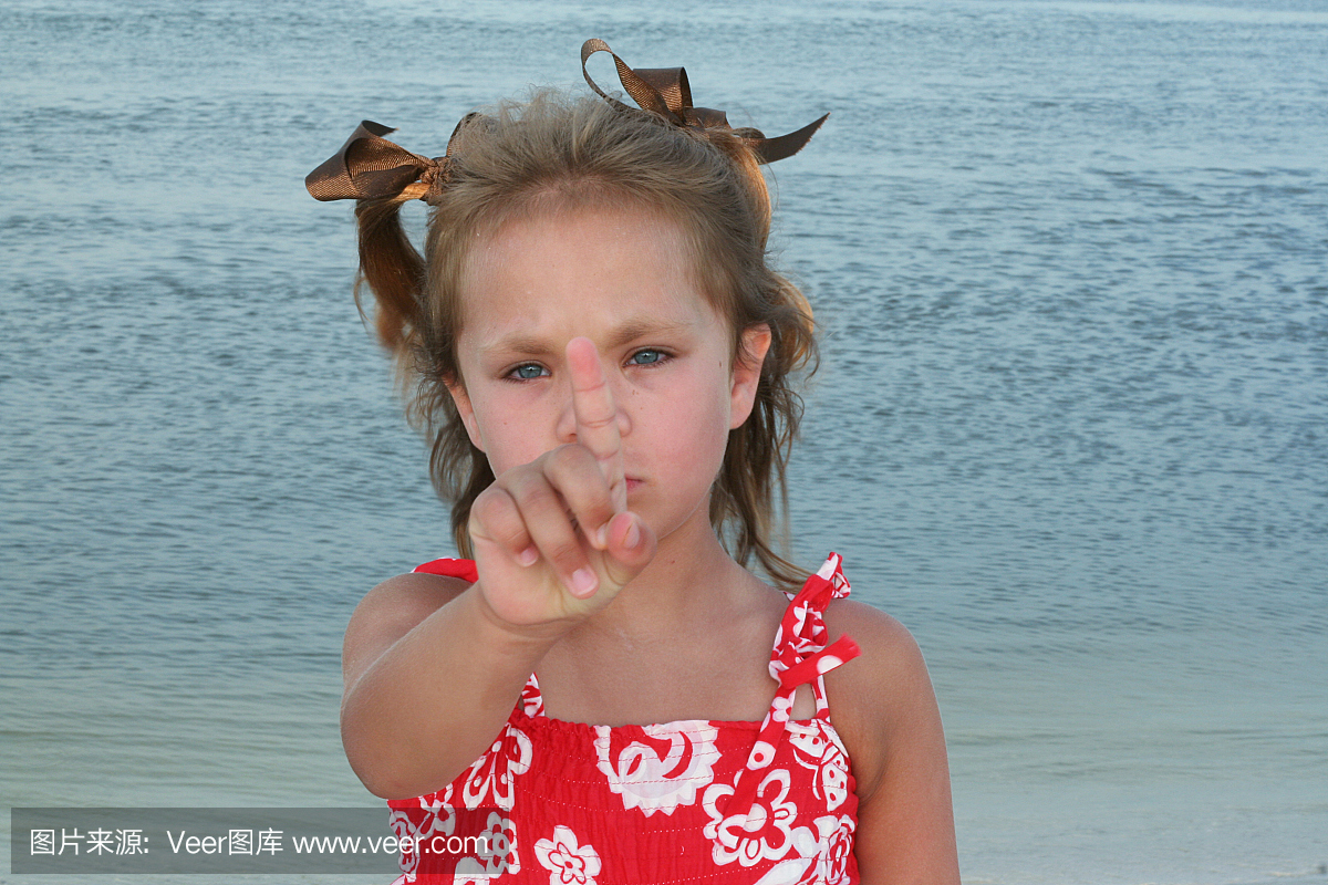
[(461, 593), (348, 686), (341, 740), (351, 767), (386, 799), (441, 789), (493, 743), (556, 638), (505, 630), (477, 586)]

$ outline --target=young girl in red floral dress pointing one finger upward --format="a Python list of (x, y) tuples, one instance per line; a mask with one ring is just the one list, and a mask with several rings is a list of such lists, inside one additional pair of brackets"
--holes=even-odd
[[(768, 543), (814, 342), (765, 260), (758, 163), (822, 121), (734, 130), (681, 69), (614, 60), (641, 110), (587, 76), (603, 100), (471, 114), (438, 159), (365, 122), (309, 175), (359, 200), (473, 557), (356, 609), (347, 756), (390, 800), (401, 882), (955, 882), (918, 646), (842, 598), (835, 555), (807, 577)], [(487, 849), (458, 857), (467, 835)]]

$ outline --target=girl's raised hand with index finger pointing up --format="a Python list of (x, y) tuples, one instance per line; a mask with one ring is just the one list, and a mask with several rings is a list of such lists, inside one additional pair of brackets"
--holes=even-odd
[(618, 409), (599, 352), (567, 345), (576, 442), (505, 471), (470, 508), (479, 590), (515, 629), (570, 629), (649, 563), (655, 536), (627, 510)]

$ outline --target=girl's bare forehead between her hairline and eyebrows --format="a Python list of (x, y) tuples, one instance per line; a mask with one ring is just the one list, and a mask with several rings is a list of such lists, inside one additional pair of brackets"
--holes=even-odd
[(510, 219), (479, 235), (461, 275), (462, 337), (550, 340), (721, 324), (683, 228), (635, 207)]

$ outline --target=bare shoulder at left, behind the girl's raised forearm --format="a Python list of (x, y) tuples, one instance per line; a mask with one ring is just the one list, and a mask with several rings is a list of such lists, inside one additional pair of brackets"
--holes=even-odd
[(388, 579), (365, 593), (351, 616), (341, 646), (345, 685), (353, 685), (397, 640), (469, 586), (458, 577), (412, 572)]

